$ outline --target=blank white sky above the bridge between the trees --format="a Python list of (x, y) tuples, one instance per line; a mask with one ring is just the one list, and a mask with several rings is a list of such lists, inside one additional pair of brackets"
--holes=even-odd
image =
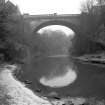
[(18, 5), (21, 13), (35, 14), (78, 14), (84, 0), (10, 0)]

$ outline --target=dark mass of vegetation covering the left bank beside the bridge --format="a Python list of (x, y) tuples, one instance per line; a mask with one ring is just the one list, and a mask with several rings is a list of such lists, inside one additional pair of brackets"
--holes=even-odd
[(0, 4), (0, 63), (23, 63), (30, 30), (19, 8), (3, 0)]

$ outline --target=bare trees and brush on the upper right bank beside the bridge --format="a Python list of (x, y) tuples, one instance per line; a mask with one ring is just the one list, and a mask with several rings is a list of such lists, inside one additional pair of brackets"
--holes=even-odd
[(88, 27), (86, 36), (105, 45), (105, 0), (82, 2), (81, 16), (81, 22)]

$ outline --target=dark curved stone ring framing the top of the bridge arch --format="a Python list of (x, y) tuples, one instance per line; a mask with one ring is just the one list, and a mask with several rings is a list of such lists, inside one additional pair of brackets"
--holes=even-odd
[(46, 27), (46, 26), (50, 26), (50, 25), (62, 25), (62, 26), (66, 26), (66, 27), (70, 28), (72, 31), (74, 31), (76, 33), (76, 35), (77, 34), (78, 35), (81, 34), (79, 28), (75, 24), (72, 24), (72, 23), (66, 22), (66, 21), (59, 21), (59, 20), (53, 20), (53, 21), (47, 21), (47, 22), (41, 23), (40, 25), (38, 25), (34, 29), (34, 32), (36, 33), (41, 28)]

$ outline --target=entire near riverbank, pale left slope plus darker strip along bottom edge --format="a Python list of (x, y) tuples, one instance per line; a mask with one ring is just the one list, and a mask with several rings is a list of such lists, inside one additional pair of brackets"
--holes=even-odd
[[(13, 77), (11, 71), (15, 66), (0, 68), (0, 104), (3, 105), (105, 105), (104, 99), (96, 97), (39, 97)], [(2, 69), (2, 70), (1, 70)], [(15, 68), (16, 69), (16, 68)]]

